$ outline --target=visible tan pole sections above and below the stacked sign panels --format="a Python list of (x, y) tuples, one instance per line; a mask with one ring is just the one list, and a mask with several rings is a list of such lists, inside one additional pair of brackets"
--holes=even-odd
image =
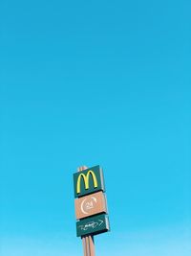
[[(80, 172), (86, 169), (88, 169), (88, 167), (81, 166), (77, 168), (77, 171)], [(82, 244), (83, 244), (84, 256), (96, 256), (94, 236), (82, 237)]]

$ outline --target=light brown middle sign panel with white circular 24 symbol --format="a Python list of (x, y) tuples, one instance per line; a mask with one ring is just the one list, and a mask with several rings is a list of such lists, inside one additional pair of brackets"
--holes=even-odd
[(105, 195), (101, 191), (83, 198), (76, 198), (74, 206), (76, 220), (107, 212)]

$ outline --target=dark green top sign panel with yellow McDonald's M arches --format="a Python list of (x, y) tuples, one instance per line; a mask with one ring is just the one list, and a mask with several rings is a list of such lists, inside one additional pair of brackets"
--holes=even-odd
[(102, 170), (98, 165), (74, 174), (75, 198), (92, 194), (100, 190), (104, 191), (104, 181)]

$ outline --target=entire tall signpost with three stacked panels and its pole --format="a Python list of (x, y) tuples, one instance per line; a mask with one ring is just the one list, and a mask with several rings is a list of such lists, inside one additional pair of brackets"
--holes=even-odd
[(74, 174), (76, 235), (81, 237), (84, 256), (95, 256), (94, 235), (109, 231), (104, 180), (99, 166), (82, 166)]

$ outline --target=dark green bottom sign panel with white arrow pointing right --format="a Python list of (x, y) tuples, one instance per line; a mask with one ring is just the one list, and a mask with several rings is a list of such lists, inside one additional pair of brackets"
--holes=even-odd
[(107, 232), (109, 229), (109, 220), (105, 214), (96, 215), (95, 217), (76, 222), (77, 237), (96, 235)]

